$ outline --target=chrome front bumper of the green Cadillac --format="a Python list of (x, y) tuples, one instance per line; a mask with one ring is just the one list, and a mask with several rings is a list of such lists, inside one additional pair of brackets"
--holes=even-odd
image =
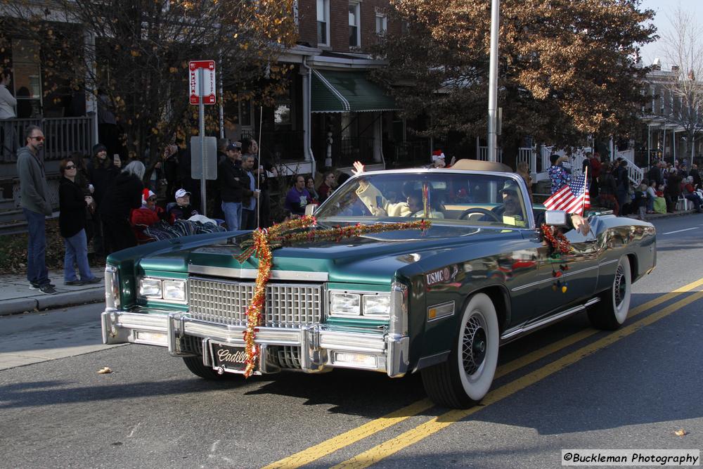
[[(212, 366), (207, 352), (210, 342), (234, 347), (244, 347), (245, 328), (225, 326), (192, 319), (187, 313), (146, 314), (130, 311), (105, 311), (101, 315), (103, 342), (126, 342), (168, 347), (169, 353), (181, 356), (177, 343), (183, 336), (202, 340), (202, 361)], [(303, 328), (260, 327), (256, 337), (261, 345), (259, 373), (278, 371), (266, 363), (266, 347), (300, 347), (300, 368), (307, 373), (329, 371), (331, 368), (356, 368), (387, 373), (391, 378), (403, 376), (408, 371), (410, 338), (396, 336), (381, 330), (356, 331), (318, 324)], [(375, 366), (354, 364), (342, 360), (349, 354), (375, 357)]]

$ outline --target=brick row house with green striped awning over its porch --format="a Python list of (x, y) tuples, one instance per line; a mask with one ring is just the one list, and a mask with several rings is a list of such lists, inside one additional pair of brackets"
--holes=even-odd
[(408, 142), (394, 100), (368, 79), (385, 65), (371, 46), (401, 27), (387, 8), (388, 0), (297, 1), (299, 40), (279, 58), (293, 65), (288, 96), (263, 110), (240, 103), (238, 123), (225, 136), (260, 135), (262, 155), (291, 174), (349, 168), (355, 160), (372, 167), (425, 162), (429, 141)]

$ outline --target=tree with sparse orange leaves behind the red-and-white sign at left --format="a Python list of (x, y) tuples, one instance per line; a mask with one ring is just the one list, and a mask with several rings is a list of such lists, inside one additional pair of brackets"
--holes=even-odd
[[(29, 37), (41, 44), (45, 91), (49, 83), (104, 91), (139, 154), (174, 136), (197, 132), (197, 107), (188, 105), (188, 60), (216, 60), (225, 105), (252, 99), (271, 103), (285, 91), (290, 65), (277, 63), (295, 45), (292, 0), (0, 0), (0, 41)], [(246, 90), (246, 91), (242, 91)], [(219, 86), (218, 86), (219, 94)], [(231, 113), (234, 115), (235, 113)], [(209, 107), (207, 127), (218, 127)]]

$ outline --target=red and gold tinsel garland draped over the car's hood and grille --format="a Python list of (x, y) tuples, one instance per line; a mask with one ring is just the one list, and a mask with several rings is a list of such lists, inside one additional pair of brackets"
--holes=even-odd
[(259, 259), (259, 269), (257, 281), (254, 285), (254, 295), (251, 304), (247, 307), (247, 328), (244, 330), (244, 343), (247, 358), (245, 359), (245, 378), (249, 378), (256, 368), (257, 356), (259, 356), (259, 346), (254, 342), (259, 326), (262, 323), (264, 301), (266, 300), (266, 283), (271, 278), (271, 266), (273, 266), (273, 249), (280, 248), (283, 243), (309, 243), (321, 240), (340, 241), (344, 238), (354, 238), (370, 233), (381, 233), (383, 231), (427, 230), (430, 228), (429, 220), (407, 221), (403, 223), (387, 223), (372, 225), (350, 225), (335, 226), (330, 229), (314, 229), (302, 233), (290, 233), (297, 229), (315, 226), (315, 217), (305, 216), (299, 219), (286, 221), (285, 223), (271, 226), (269, 229), (256, 229), (252, 232), (253, 244), (238, 255), (236, 259), (241, 263), (249, 259), (252, 255)]

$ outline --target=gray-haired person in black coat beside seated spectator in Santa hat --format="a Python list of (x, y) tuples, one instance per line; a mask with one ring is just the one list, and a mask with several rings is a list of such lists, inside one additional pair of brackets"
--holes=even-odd
[(142, 179), (144, 164), (141, 161), (129, 163), (108, 188), (98, 210), (105, 228), (105, 253), (120, 251), (136, 246), (136, 237), (129, 224), (129, 214), (133, 208), (141, 207)]

